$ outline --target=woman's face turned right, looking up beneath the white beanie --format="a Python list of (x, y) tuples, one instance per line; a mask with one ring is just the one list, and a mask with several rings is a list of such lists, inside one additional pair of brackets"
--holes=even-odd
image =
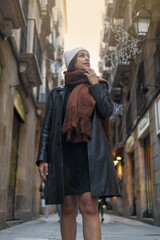
[(85, 70), (90, 67), (90, 55), (88, 52), (82, 50), (77, 54), (77, 59), (74, 65), (75, 69)]

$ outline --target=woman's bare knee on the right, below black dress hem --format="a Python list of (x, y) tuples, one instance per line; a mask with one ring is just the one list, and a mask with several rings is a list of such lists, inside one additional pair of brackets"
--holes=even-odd
[(98, 199), (86, 194), (80, 198), (80, 209), (82, 214), (95, 215), (98, 213)]

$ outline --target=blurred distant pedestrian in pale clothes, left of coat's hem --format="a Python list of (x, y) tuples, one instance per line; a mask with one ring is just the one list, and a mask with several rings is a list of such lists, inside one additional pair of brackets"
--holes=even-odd
[(44, 196), (44, 191), (45, 191), (45, 182), (42, 181), (39, 191), (41, 192), (41, 208), (42, 208), (42, 213), (44, 217), (42, 218), (42, 222), (48, 222), (48, 215), (50, 211), (50, 205), (45, 204), (45, 196)]

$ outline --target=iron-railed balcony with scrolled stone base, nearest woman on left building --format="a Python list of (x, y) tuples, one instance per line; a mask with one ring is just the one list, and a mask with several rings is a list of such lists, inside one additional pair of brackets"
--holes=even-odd
[(34, 19), (21, 32), (19, 71), (24, 85), (41, 85), (42, 51)]

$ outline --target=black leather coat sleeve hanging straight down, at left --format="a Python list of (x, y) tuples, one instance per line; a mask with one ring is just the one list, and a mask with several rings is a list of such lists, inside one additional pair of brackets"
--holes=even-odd
[(40, 139), (39, 139), (39, 147), (38, 147), (38, 154), (37, 154), (37, 160), (36, 160), (37, 166), (39, 166), (40, 161), (47, 162), (47, 149), (48, 149), (48, 142), (49, 142), (49, 136), (50, 136), (52, 107), (53, 107), (53, 99), (52, 99), (51, 93), (52, 91), (50, 92), (48, 97)]

